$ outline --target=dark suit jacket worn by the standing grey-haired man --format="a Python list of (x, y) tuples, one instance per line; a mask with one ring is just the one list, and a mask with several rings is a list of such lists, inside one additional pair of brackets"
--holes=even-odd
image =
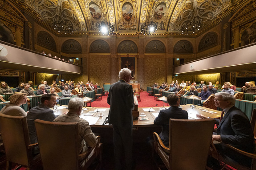
[(112, 84), (109, 90), (108, 104), (110, 104), (109, 124), (118, 127), (132, 127), (132, 110), (135, 105), (130, 84), (122, 79)]

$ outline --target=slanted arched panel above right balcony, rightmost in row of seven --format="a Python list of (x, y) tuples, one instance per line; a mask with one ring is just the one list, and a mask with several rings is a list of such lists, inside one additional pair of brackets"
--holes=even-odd
[(209, 32), (200, 40), (198, 51), (211, 48), (218, 44), (218, 35), (216, 32)]

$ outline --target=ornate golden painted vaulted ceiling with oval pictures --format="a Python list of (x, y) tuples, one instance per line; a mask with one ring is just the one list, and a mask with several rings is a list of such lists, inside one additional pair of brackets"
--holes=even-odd
[[(22, 1), (22, 0), (20, 0)], [(43, 22), (60, 32), (98, 32), (114, 25), (116, 32), (137, 33), (154, 21), (156, 33), (204, 28), (231, 5), (231, 0), (24, 0)], [(194, 27), (193, 27), (194, 26)]]

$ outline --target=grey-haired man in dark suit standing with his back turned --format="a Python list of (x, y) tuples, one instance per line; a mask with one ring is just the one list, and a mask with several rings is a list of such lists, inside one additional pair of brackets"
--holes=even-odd
[[(132, 169), (132, 110), (134, 96), (132, 86), (128, 84), (131, 71), (123, 68), (119, 71), (119, 81), (110, 86), (108, 104), (110, 104), (109, 124), (113, 125), (114, 157), (116, 170)], [(124, 159), (123, 155), (124, 154)], [(125, 165), (122, 165), (122, 161)]]

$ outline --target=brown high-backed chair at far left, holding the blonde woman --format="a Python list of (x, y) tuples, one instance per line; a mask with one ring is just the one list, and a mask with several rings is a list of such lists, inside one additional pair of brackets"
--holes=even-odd
[(1, 113), (0, 129), (7, 158), (6, 170), (12, 169), (12, 163), (26, 166), (28, 170), (41, 163), (40, 154), (33, 157), (32, 149), (38, 144), (30, 143), (25, 116), (9, 116)]

